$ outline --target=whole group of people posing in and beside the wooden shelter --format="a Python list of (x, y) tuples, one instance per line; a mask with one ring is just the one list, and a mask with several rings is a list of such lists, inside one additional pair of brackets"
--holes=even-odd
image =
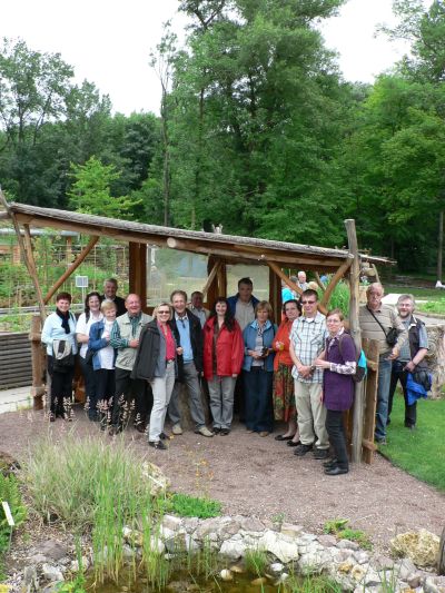
[[(283, 299), (279, 327), (270, 304), (253, 295), (250, 278), (238, 281), (233, 297), (218, 297), (211, 312), (204, 308), (201, 293), (192, 293), (188, 303), (184, 290), (174, 290), (170, 302), (159, 303), (150, 316), (142, 313), (138, 295), (121, 299), (116, 280), (109, 279), (103, 295), (87, 295), (85, 313), (76, 322), (70, 295), (60, 293), (42, 330), (51, 376), (50, 421), (72, 416), (73, 366), (60, 364), (65, 355), (72, 359), (79, 348), (88, 416), (110, 434), (122, 431), (134, 413), (136, 428), (148, 427), (149, 445), (166, 449), (167, 415), (172, 434), (182, 434), (179, 385), (184, 384), (196, 433), (228, 435), (237, 406), (249, 433), (266, 437), (274, 422), (281, 421), (286, 431), (276, 441), (295, 447), (297, 457), (312, 451), (324, 461), (327, 475), (347, 473), (343, 414), (353, 405), (357, 352), (343, 313), (333, 309), (323, 315), (317, 290), (305, 286), (303, 275), (296, 279), (303, 290), (298, 298)], [(367, 305), (359, 312), (363, 336), (379, 344), (375, 434), (379, 443), (386, 438), (397, 380), (405, 389), (406, 374), (422, 367), (427, 352), (425, 328), (413, 315), (414, 298), (400, 297), (398, 316), (382, 304), (382, 285), (370, 285)], [(392, 328), (396, 337), (389, 347)], [(211, 429), (206, 426), (204, 385)], [(407, 404), (406, 426), (414, 426), (415, 419), (415, 404)]]

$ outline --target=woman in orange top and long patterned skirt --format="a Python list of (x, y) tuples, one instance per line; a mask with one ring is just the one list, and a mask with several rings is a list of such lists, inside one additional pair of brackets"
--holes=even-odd
[(290, 446), (299, 444), (297, 409), (295, 406), (294, 377), (291, 376), (293, 360), (289, 355), (289, 336), (294, 320), (301, 314), (301, 305), (289, 299), (283, 305), (285, 319), (278, 327), (274, 340), (274, 416), (276, 421), (287, 422), (285, 434), (277, 435), (275, 441), (287, 441)]

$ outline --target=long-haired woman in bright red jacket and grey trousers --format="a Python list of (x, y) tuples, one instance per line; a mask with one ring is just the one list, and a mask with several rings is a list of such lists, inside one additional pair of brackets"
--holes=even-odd
[(214, 434), (228, 435), (234, 416), (235, 383), (241, 370), (241, 328), (227, 298), (218, 297), (204, 326), (204, 377), (207, 379)]

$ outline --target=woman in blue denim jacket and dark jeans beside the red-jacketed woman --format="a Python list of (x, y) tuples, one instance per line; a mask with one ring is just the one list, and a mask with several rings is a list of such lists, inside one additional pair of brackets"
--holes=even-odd
[(271, 316), (269, 303), (260, 300), (255, 307), (255, 320), (244, 330), (246, 427), (249, 433), (258, 433), (259, 436), (267, 436), (274, 426), (271, 384), (276, 329), (270, 322)]

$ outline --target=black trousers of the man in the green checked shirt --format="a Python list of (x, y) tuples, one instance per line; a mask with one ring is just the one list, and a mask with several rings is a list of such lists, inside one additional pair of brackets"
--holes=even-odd
[(135, 426), (147, 424), (152, 407), (151, 387), (147, 380), (132, 379), (131, 370), (116, 368), (116, 389), (112, 403), (111, 424), (123, 426), (135, 409)]

